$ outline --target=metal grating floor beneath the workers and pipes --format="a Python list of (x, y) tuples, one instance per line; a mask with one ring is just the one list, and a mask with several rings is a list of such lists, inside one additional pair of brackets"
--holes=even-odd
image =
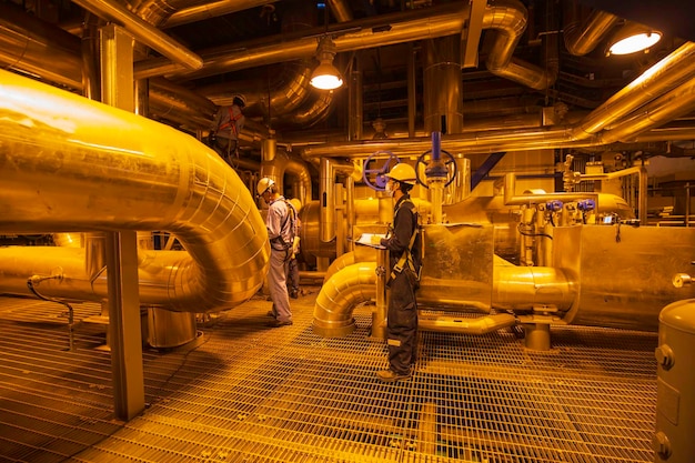
[(531, 352), (512, 331), (423, 332), (413, 378), (383, 384), (371, 308), (322, 339), (305, 290), (292, 326), (265, 328), (259, 296), (201, 322), (193, 345), (145, 350), (149, 406), (128, 423), (103, 326), (78, 326), (70, 352), (62, 306), (0, 298), (0, 461), (653, 461), (656, 333), (553, 329), (553, 349)]

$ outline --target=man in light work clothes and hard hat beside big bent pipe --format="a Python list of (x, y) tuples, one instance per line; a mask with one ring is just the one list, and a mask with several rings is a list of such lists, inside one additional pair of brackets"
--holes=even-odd
[(280, 194), (273, 179), (262, 178), (255, 190), (268, 204), (265, 228), (271, 249), (268, 285), (273, 301), (273, 308), (269, 312), (273, 320), (268, 325), (273, 328), (291, 325), (292, 310), (286, 286), (286, 265), (292, 256), (292, 244), (296, 235), (296, 211)]

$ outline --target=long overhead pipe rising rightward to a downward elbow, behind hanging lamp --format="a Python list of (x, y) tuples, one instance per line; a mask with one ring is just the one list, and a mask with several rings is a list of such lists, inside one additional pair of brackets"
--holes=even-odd
[[(234, 43), (228, 48), (201, 51), (204, 66), (199, 71), (187, 71), (180, 64), (165, 59), (149, 59), (135, 63), (137, 79), (155, 76), (170, 76), (198, 79), (241, 69), (272, 64), (282, 61), (303, 59), (314, 54), (316, 37), (331, 33), (338, 52), (363, 50), (374, 47), (403, 43), (422, 39), (460, 34), (469, 17), (469, 7), (447, 3), (422, 10), (411, 10), (376, 18), (344, 22), (326, 31), (314, 28), (300, 33), (286, 33), (281, 38), (266, 38), (262, 41)], [(550, 82), (551, 79), (540, 68), (521, 60), (512, 61), (517, 37), (525, 27), (525, 8), (516, 0), (495, 2), (485, 10), (484, 23), (488, 29), (501, 29), (494, 38), (494, 47), (488, 56), (494, 72), (522, 83)], [(387, 28), (384, 28), (387, 24)], [(354, 31), (354, 32), (352, 32)]]

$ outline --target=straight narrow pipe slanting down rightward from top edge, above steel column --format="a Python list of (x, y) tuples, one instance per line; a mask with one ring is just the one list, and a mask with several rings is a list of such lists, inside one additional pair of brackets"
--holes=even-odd
[(138, 18), (119, 3), (103, 0), (73, 1), (100, 18), (123, 26), (135, 40), (188, 69), (200, 69), (203, 66), (203, 60), (198, 54), (185, 49), (181, 43)]

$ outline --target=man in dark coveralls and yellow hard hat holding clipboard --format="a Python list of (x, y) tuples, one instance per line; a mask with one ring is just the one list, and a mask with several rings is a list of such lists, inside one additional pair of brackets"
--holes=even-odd
[(417, 301), (422, 265), (422, 240), (417, 232), (417, 211), (410, 191), (415, 185), (415, 170), (405, 163), (395, 164), (385, 174), (386, 192), (395, 201), (393, 229), (381, 245), (389, 250), (391, 274), (387, 312), (389, 370), (376, 372), (384, 382), (405, 380), (417, 358)]

